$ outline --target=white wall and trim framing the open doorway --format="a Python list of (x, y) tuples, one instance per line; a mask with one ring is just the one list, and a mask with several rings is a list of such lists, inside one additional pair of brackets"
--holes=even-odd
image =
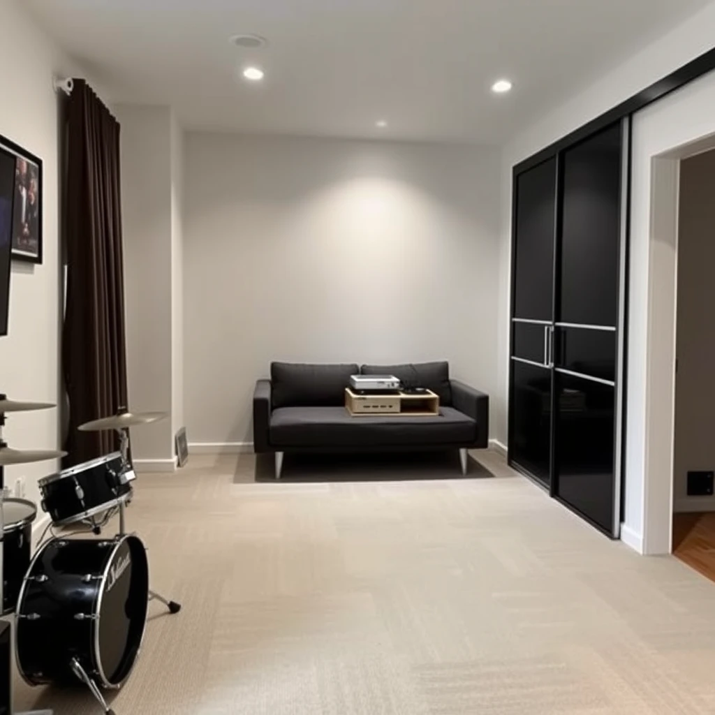
[(623, 541), (646, 554), (672, 541), (680, 162), (712, 148), (715, 72), (633, 117)]

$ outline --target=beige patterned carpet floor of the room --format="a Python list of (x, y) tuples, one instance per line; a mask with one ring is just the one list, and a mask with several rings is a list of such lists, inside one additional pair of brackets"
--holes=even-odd
[[(152, 604), (117, 715), (715, 713), (715, 584), (475, 457), (493, 478), (292, 482), (287, 465), (250, 483), (252, 455), (142, 476), (129, 524), (184, 608)], [(16, 706), (99, 713), (20, 683)]]

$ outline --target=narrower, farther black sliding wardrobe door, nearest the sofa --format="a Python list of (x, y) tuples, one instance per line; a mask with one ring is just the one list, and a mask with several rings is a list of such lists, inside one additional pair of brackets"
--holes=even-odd
[(511, 323), (511, 461), (551, 483), (556, 158), (516, 180)]

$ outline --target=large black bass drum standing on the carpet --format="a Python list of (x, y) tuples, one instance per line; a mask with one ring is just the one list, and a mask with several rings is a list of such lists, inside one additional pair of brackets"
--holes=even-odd
[(147, 623), (149, 566), (137, 536), (52, 539), (36, 553), (17, 603), (17, 667), (30, 685), (104, 688), (132, 672)]

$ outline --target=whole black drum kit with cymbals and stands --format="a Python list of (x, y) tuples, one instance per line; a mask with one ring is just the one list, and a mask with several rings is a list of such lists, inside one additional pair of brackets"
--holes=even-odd
[[(129, 428), (157, 422), (164, 413), (116, 415), (79, 427), (117, 430), (119, 452), (94, 459), (39, 481), (48, 529), (79, 524), (80, 531), (41, 537), (31, 554), (31, 526), (37, 508), (9, 498), (3, 488), (8, 465), (51, 460), (60, 451), (14, 450), (2, 440), (6, 413), (45, 410), (55, 405), (20, 403), (0, 395), (0, 604), (1, 615), (15, 613), (15, 659), (32, 686), (89, 688), (105, 714), (113, 715), (102, 689), (119, 689), (132, 673), (147, 623), (148, 603), (156, 599), (170, 613), (181, 606), (149, 588), (146, 548), (125, 529), (125, 510), (136, 479), (129, 458)], [(98, 538), (119, 514), (119, 533)], [(77, 538), (91, 532), (94, 538)], [(0, 711), (2, 707), (0, 704)], [(24, 715), (52, 715), (34, 711)]]

